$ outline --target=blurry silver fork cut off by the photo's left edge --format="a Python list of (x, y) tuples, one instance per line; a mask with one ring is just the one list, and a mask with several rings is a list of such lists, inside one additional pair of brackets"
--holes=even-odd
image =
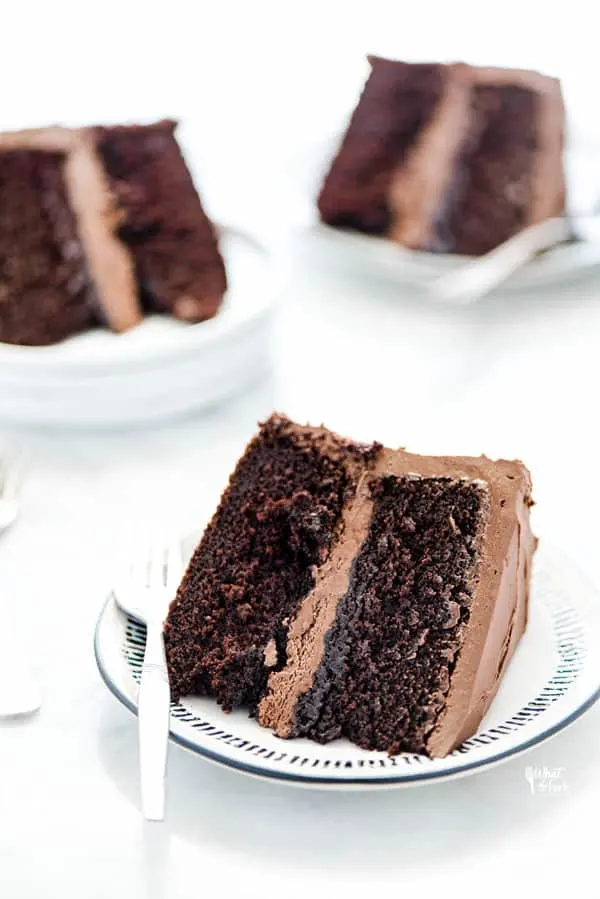
[[(0, 457), (0, 533), (17, 520), (22, 479), (20, 456)], [(4, 597), (0, 600), (0, 717), (28, 715), (41, 704), (39, 684)]]

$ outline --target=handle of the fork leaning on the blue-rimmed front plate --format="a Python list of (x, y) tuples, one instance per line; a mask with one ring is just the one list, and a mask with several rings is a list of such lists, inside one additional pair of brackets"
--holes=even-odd
[(165, 774), (171, 693), (162, 622), (148, 622), (138, 695), (138, 735), (142, 811), (148, 821), (165, 816)]

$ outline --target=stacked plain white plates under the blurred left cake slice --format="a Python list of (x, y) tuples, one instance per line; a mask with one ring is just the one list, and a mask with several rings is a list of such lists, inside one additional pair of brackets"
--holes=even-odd
[(215, 318), (146, 318), (125, 334), (90, 331), (50, 347), (0, 343), (0, 418), (121, 426), (214, 406), (268, 368), (275, 286), (266, 250), (220, 230), (228, 290)]

